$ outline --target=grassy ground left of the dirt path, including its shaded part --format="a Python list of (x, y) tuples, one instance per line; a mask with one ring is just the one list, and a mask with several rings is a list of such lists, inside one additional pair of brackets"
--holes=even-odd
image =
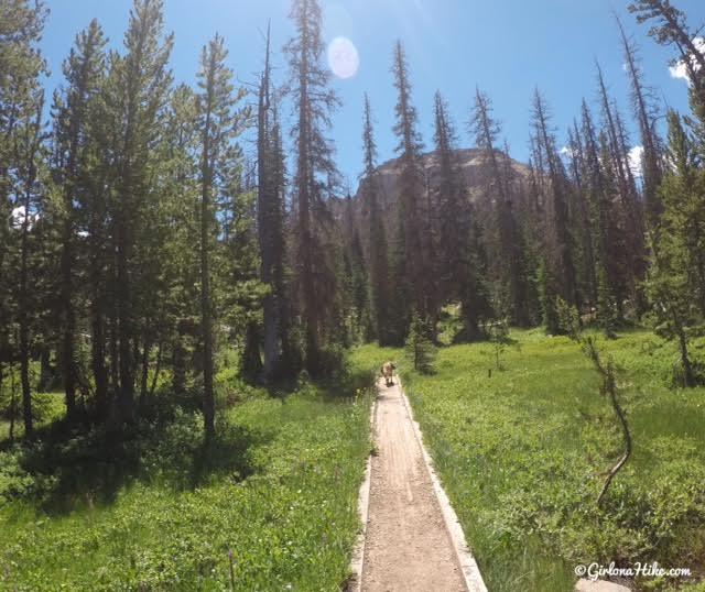
[[(0, 448), (0, 589), (339, 590), (359, 527), (370, 397), (248, 390), (199, 416)], [(242, 397), (241, 397), (242, 398)], [(229, 551), (232, 562), (230, 563)]]

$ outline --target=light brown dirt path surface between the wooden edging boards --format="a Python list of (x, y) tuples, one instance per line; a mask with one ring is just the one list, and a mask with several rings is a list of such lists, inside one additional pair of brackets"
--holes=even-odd
[(467, 591), (398, 381), (378, 385), (362, 592)]

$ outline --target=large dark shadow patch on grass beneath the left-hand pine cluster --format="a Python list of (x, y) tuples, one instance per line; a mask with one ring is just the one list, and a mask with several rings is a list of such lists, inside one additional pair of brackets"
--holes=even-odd
[(223, 423), (216, 439), (206, 443), (202, 415), (180, 407), (169, 418), (120, 430), (57, 421), (37, 436), (7, 449), (32, 484), (15, 495), (0, 491), (0, 501), (3, 493), (33, 500), (47, 514), (110, 505), (135, 483), (187, 491), (221, 480), (239, 482), (256, 470), (251, 449), (272, 437)]

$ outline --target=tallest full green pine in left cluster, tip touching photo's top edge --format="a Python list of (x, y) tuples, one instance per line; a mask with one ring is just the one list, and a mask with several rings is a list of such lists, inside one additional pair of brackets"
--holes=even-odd
[(151, 150), (160, 133), (162, 113), (171, 86), (167, 61), (173, 36), (162, 39), (162, 0), (135, 0), (124, 36), (127, 54), (111, 54), (107, 110), (109, 133), (115, 144), (105, 144), (112, 171), (108, 179), (113, 194), (109, 202), (110, 233), (116, 264), (109, 290), (113, 292), (111, 315), (111, 374), (118, 392), (122, 421), (134, 417), (135, 351), (143, 320), (134, 282), (139, 274), (137, 245), (145, 232), (147, 204), (154, 198)]

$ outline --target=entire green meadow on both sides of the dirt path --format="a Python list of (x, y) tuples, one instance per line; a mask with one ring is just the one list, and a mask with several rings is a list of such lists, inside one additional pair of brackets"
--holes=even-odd
[(491, 592), (567, 592), (577, 564), (637, 561), (693, 574), (637, 590), (702, 591), (705, 388), (672, 387), (673, 346), (646, 331), (597, 338), (633, 439), (598, 508), (622, 450), (599, 376), (567, 338), (511, 337), (501, 370), (494, 346), (476, 343), (441, 348), (432, 375), (402, 350), (364, 346), (344, 384), (275, 396), (224, 371), (209, 447), (193, 402), (164, 394), (116, 440), (68, 430), (61, 397), (39, 395), (36, 441), (11, 445), (7, 423), (0, 435), (0, 589), (340, 590), (369, 387), (392, 359)]

